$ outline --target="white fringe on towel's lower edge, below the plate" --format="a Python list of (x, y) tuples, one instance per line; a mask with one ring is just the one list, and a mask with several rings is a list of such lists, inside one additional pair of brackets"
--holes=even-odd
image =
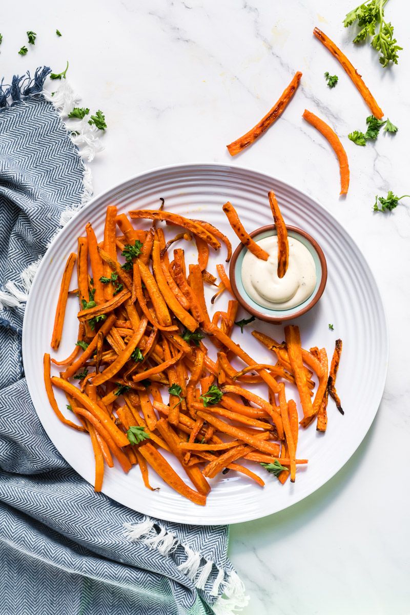
[[(211, 560), (205, 560), (202, 555), (192, 550), (187, 545), (181, 544), (178, 538), (165, 528), (161, 528), (149, 517), (144, 518), (140, 523), (125, 523), (126, 535), (130, 540), (141, 540), (151, 549), (156, 549), (162, 555), (170, 555), (176, 547), (182, 546), (186, 554), (186, 560), (178, 566), (181, 573), (195, 585), (197, 589), (205, 589), (207, 581), (210, 579), (212, 569), (218, 568)], [(159, 530), (157, 530), (159, 528)], [(201, 561), (204, 561), (201, 566)], [(227, 580), (224, 581), (224, 578)], [(212, 605), (216, 615), (235, 615), (242, 610), (249, 601), (245, 596), (245, 586), (235, 572), (226, 573), (223, 568), (218, 568), (218, 574), (213, 582), (210, 595), (219, 596), (215, 604)]]

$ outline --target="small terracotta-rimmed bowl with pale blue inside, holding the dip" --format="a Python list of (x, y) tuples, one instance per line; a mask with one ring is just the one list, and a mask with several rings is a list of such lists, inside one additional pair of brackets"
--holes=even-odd
[[(242, 308), (244, 308), (251, 315), (259, 318), (260, 320), (266, 320), (266, 322), (272, 323), (280, 323), (284, 320), (293, 320), (301, 316), (302, 314), (306, 314), (307, 311), (313, 308), (320, 299), (321, 295), (323, 295), (323, 291), (325, 290), (326, 281), (328, 279), (328, 267), (326, 265), (325, 255), (323, 254), (323, 250), (320, 245), (307, 234), (306, 231), (302, 231), (302, 229), (296, 228), (296, 226), (288, 226), (286, 225), (286, 229), (288, 229), (288, 236), (293, 237), (294, 239), (298, 239), (302, 244), (304, 244), (309, 250), (310, 254), (313, 256), (313, 261), (315, 261), (316, 266), (316, 286), (315, 290), (313, 290), (312, 295), (307, 298), (306, 301), (301, 303), (298, 306), (290, 309), (282, 309), (275, 310), (270, 308), (264, 308), (260, 306), (258, 303), (253, 301), (251, 297), (246, 293), (245, 288), (242, 284), (242, 261), (243, 257), (246, 254), (246, 248), (243, 244), (239, 244), (236, 248), (234, 254), (232, 255), (231, 264), (229, 266), (229, 278), (231, 279), (232, 290), (235, 293), (237, 300), (239, 301)], [(265, 239), (265, 237), (270, 237), (271, 235), (276, 235), (276, 228), (274, 225), (270, 226), (261, 226), (261, 228), (256, 229), (250, 233), (250, 236), (255, 240), (259, 241), (261, 239)]]

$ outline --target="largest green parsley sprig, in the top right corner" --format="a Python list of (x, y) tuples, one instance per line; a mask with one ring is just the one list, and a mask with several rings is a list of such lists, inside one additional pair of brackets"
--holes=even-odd
[[(373, 37), (371, 46), (380, 52), (379, 62), (385, 67), (389, 62), (397, 64), (397, 52), (403, 49), (393, 38), (394, 28), (390, 22), (384, 19), (384, 7), (388, 0), (367, 0), (356, 9), (351, 10), (344, 18), (344, 26), (347, 28), (357, 21), (360, 31), (353, 42), (365, 41), (368, 36)], [(377, 30), (377, 33), (376, 33)]]

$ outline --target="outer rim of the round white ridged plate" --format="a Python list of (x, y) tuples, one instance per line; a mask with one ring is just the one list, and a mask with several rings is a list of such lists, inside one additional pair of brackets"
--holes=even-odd
[[(290, 502), (289, 504), (287, 504), (286, 506), (282, 507), (279, 510), (275, 510), (274, 512), (262, 512), (262, 514), (260, 513), (255, 513), (255, 514), (251, 514), (251, 515), (243, 515), (243, 518), (235, 518), (232, 521), (227, 522), (226, 520), (222, 519), (222, 518), (216, 518), (213, 517), (211, 521), (207, 522), (206, 520), (206, 506), (203, 507), (204, 510), (204, 518), (202, 520), (201, 523), (199, 523), (197, 520), (195, 521), (190, 521), (190, 520), (183, 520), (181, 522), (181, 518), (177, 518), (175, 515), (173, 514), (167, 514), (166, 510), (164, 510), (164, 514), (161, 514), (161, 516), (158, 515), (158, 513), (141, 513), (141, 514), (146, 514), (146, 515), (152, 515), (153, 517), (157, 517), (160, 518), (162, 520), (165, 521), (169, 521), (169, 522), (175, 522), (175, 523), (186, 523), (187, 525), (225, 525), (225, 524), (229, 524), (229, 525), (234, 525), (236, 523), (245, 523), (245, 522), (250, 522), (250, 521), (254, 521), (254, 520), (258, 520), (264, 517), (269, 517), (270, 515), (274, 515), (277, 514), (278, 512), (281, 512), (282, 510), (286, 510), (292, 506), (294, 506), (295, 504), (298, 504), (298, 502), (301, 502), (303, 499), (306, 499), (310, 496), (313, 496), (313, 494), (315, 494), (317, 491), (319, 491), (323, 486), (326, 485), (326, 483), (329, 482), (329, 480), (331, 480), (331, 478), (334, 478), (337, 474), (339, 474), (339, 472), (341, 471), (341, 469), (345, 466), (345, 464), (347, 464), (347, 462), (349, 461), (350, 458), (352, 458), (353, 454), (356, 453), (356, 451), (358, 450), (359, 446), (361, 445), (361, 443), (363, 442), (364, 438), (366, 437), (366, 435), (369, 432), (369, 429), (371, 429), (371, 426), (374, 423), (374, 419), (376, 418), (377, 415), (377, 411), (379, 410), (380, 407), (380, 403), (382, 402), (382, 397), (383, 397), (383, 393), (384, 393), (384, 389), (385, 389), (385, 383), (386, 383), (386, 379), (387, 379), (387, 371), (388, 371), (388, 362), (389, 362), (389, 357), (390, 357), (390, 336), (389, 336), (389, 330), (388, 330), (388, 322), (387, 322), (387, 317), (386, 317), (386, 310), (385, 310), (385, 302), (384, 299), (380, 293), (379, 290), (379, 285), (377, 284), (377, 280), (376, 277), (374, 276), (373, 273), (373, 269), (371, 269), (371, 266), (368, 263), (367, 258), (365, 257), (365, 255), (363, 254), (363, 252), (361, 251), (361, 248), (358, 246), (357, 242), (355, 241), (355, 239), (353, 239), (353, 237), (350, 235), (350, 233), (347, 231), (347, 229), (345, 228), (344, 224), (341, 223), (341, 221), (337, 220), (337, 218), (334, 217), (333, 213), (329, 210), (328, 207), (325, 207), (325, 205), (323, 205), (316, 197), (311, 196), (310, 194), (307, 194), (307, 192), (304, 192), (301, 188), (299, 188), (298, 186), (296, 186), (294, 183), (289, 183), (288, 181), (284, 181), (278, 177), (276, 177), (275, 175), (270, 175), (268, 173), (265, 173), (263, 171), (260, 171), (258, 169), (254, 169), (253, 167), (245, 167), (242, 165), (232, 165), (232, 164), (227, 164), (225, 162), (179, 162), (179, 163), (175, 163), (175, 164), (170, 164), (170, 165), (162, 165), (159, 167), (154, 167), (152, 169), (146, 169), (144, 171), (141, 171), (140, 173), (134, 173), (132, 175), (130, 175), (129, 177), (125, 178), (124, 180), (120, 181), (117, 184), (114, 184), (112, 186), (110, 186), (109, 188), (105, 189), (103, 192), (98, 193), (95, 196), (92, 196), (92, 198), (83, 205), (83, 207), (79, 208), (73, 215), (73, 217), (68, 221), (68, 223), (66, 223), (63, 227), (61, 227), (60, 229), (58, 229), (58, 232), (55, 234), (55, 236), (53, 237), (53, 239), (50, 241), (49, 246), (47, 247), (47, 250), (45, 251), (44, 255), (42, 256), (41, 262), (39, 264), (39, 267), (36, 271), (36, 274), (34, 276), (33, 282), (31, 284), (31, 288), (30, 288), (30, 292), (28, 294), (28, 299), (26, 301), (26, 306), (25, 306), (25, 314), (23, 317), (23, 328), (22, 328), (22, 362), (23, 362), (23, 369), (24, 369), (24, 374), (25, 374), (25, 378), (26, 378), (26, 383), (28, 386), (28, 392), (30, 394), (30, 399), (31, 402), (33, 403), (33, 407), (34, 410), (36, 411), (36, 415), (37, 418), (39, 419), (42, 428), (44, 429), (45, 433), (47, 434), (47, 437), (50, 439), (50, 442), (52, 442), (53, 446), (55, 446), (55, 448), (58, 450), (58, 453), (61, 454), (61, 456), (63, 456), (62, 453), (60, 453), (60, 450), (58, 449), (57, 445), (53, 442), (51, 436), (49, 435), (49, 432), (47, 431), (46, 427), (44, 426), (44, 424), (41, 421), (41, 418), (39, 416), (39, 413), (37, 413), (37, 409), (36, 409), (36, 405), (34, 404), (33, 401), (33, 396), (31, 395), (31, 387), (30, 387), (30, 378), (27, 378), (27, 373), (26, 373), (26, 369), (25, 369), (25, 357), (28, 354), (28, 336), (27, 336), (27, 327), (28, 327), (28, 323), (27, 323), (27, 318), (26, 318), (26, 314), (29, 312), (30, 308), (30, 304), (31, 304), (31, 297), (33, 296), (33, 294), (31, 293), (31, 289), (34, 287), (34, 285), (36, 284), (36, 279), (39, 276), (39, 274), (41, 274), (42, 269), (46, 266), (47, 264), (47, 255), (49, 254), (49, 252), (55, 248), (55, 244), (57, 244), (58, 239), (61, 236), (62, 232), (66, 232), (66, 229), (69, 229), (73, 224), (76, 223), (77, 217), (84, 212), (85, 210), (87, 210), (88, 208), (92, 207), (92, 205), (97, 201), (97, 200), (102, 200), (104, 199), (104, 197), (106, 197), (110, 192), (119, 192), (121, 191), (122, 188), (124, 188), (126, 185), (130, 184), (130, 183), (135, 183), (136, 181), (138, 181), (139, 178), (144, 177), (144, 176), (148, 176), (148, 175), (156, 175), (157, 173), (161, 173), (161, 172), (167, 172), (167, 171), (176, 171), (176, 170), (234, 170), (234, 171), (239, 171), (239, 172), (245, 172), (245, 173), (251, 173), (254, 174), (256, 176), (258, 176), (259, 178), (264, 178), (266, 180), (273, 180), (275, 183), (278, 183), (282, 186), (285, 186), (286, 188), (290, 188), (293, 191), (299, 192), (299, 194), (301, 194), (302, 197), (305, 197), (307, 199), (310, 199), (312, 202), (314, 202), (315, 205), (318, 206), (319, 209), (323, 209), (327, 215), (329, 215), (331, 217), (331, 219), (336, 222), (336, 224), (339, 226), (339, 228), (342, 230), (342, 232), (344, 232), (344, 234), (348, 237), (349, 241), (351, 242), (352, 246), (355, 248), (355, 250), (358, 252), (358, 254), (360, 255), (362, 262), (365, 264), (366, 268), (367, 268), (367, 276), (368, 274), (370, 274), (371, 276), (371, 282), (373, 282), (374, 288), (377, 292), (378, 295), (378, 300), (380, 301), (379, 306), (381, 307), (381, 312), (382, 314), (380, 314), (380, 317), (382, 319), (382, 323), (384, 325), (384, 333), (385, 333), (385, 361), (384, 361), (384, 367), (382, 369), (382, 378), (379, 379), (379, 387), (378, 387), (378, 392), (377, 392), (377, 399), (379, 400), (377, 402), (377, 405), (375, 404), (376, 408), (374, 409), (374, 411), (372, 411), (371, 413), (371, 420), (369, 421), (369, 425), (366, 429), (366, 431), (363, 433), (363, 435), (360, 435), (360, 437), (358, 438), (357, 442), (355, 441), (355, 446), (352, 450), (352, 453), (349, 454), (349, 456), (345, 459), (344, 462), (342, 462), (341, 466), (339, 466), (331, 475), (329, 475), (328, 477), (325, 478), (325, 480), (321, 483), (320, 486), (318, 486), (317, 488), (315, 488), (313, 491), (311, 491), (310, 493), (302, 493), (300, 496), (296, 495), (293, 499), (292, 502)], [(379, 310), (380, 312), (380, 310)], [(381, 370), (380, 370), (381, 371)], [(29, 370), (30, 372), (30, 370)], [(63, 458), (65, 459), (65, 457), (63, 456)], [(65, 460), (66, 461), (66, 460)], [(69, 466), (74, 470), (74, 468), (71, 466), (71, 464), (69, 464)], [(74, 470), (74, 472), (76, 472), (76, 470)], [(77, 472), (77, 474), (79, 474)], [(79, 474), (81, 475), (81, 474)], [(83, 480), (85, 480), (85, 482), (88, 482), (84, 477), (82, 477)], [(89, 483), (92, 484), (92, 483)], [(104, 492), (103, 492), (104, 493)], [(105, 493), (104, 493), (105, 494)], [(107, 494), (105, 494), (107, 497)], [(118, 500), (111, 498), (113, 501), (119, 503), (121, 506), (127, 506), (127, 504), (122, 504), (122, 502), (119, 502)], [(187, 513), (187, 515), (189, 515), (189, 513)]]

